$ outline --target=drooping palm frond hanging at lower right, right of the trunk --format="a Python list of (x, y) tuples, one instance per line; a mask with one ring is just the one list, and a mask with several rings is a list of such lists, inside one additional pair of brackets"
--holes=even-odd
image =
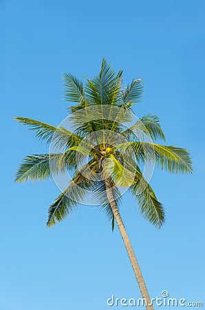
[(155, 227), (160, 228), (165, 220), (164, 206), (158, 201), (139, 167), (136, 172), (136, 183), (131, 185), (130, 191), (138, 200), (139, 211), (142, 216)]

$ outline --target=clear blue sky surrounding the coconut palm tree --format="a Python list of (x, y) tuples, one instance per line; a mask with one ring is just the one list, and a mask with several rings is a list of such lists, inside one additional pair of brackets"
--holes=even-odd
[(12, 118), (61, 123), (63, 72), (91, 77), (103, 56), (125, 70), (125, 82), (144, 79), (137, 116), (158, 114), (166, 144), (186, 147), (193, 156), (193, 176), (153, 174), (151, 184), (166, 207), (162, 229), (145, 221), (125, 195), (122, 218), (150, 295), (166, 289), (173, 298), (203, 300), (204, 1), (8, 0), (0, 8), (6, 12), (0, 309), (103, 310), (111, 308), (111, 294), (140, 298), (120, 235), (111, 233), (105, 214), (81, 206), (47, 229), (56, 185), (13, 182), (21, 158), (47, 148)]

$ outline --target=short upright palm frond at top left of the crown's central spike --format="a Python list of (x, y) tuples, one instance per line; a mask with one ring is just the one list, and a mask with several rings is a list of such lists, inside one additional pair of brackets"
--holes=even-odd
[(65, 81), (65, 99), (67, 101), (80, 103), (85, 100), (83, 82), (70, 73), (65, 73), (63, 79)]

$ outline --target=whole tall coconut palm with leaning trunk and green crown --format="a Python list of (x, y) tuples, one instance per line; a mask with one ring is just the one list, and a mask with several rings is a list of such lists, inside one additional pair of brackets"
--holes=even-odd
[[(30, 118), (15, 118), (34, 130), (39, 139), (53, 143), (55, 147), (63, 147), (63, 152), (26, 156), (15, 180), (43, 180), (54, 174), (72, 172), (67, 188), (49, 207), (47, 227), (61, 222), (79, 201), (83, 201), (87, 192), (91, 192), (98, 205), (107, 211), (112, 229), (116, 220), (142, 298), (147, 309), (153, 309), (120, 216), (120, 189), (129, 189), (138, 200), (140, 214), (160, 228), (164, 223), (164, 207), (144, 178), (142, 165), (154, 161), (155, 165), (171, 173), (191, 173), (191, 157), (184, 148), (153, 142), (165, 141), (158, 116), (147, 114), (127, 126), (133, 105), (142, 97), (141, 79), (124, 87), (122, 71), (116, 74), (105, 59), (99, 74), (94, 79), (86, 78), (85, 85), (72, 74), (65, 74), (64, 79), (65, 99), (77, 103), (69, 107), (73, 130)], [(144, 141), (144, 136), (149, 141)]]

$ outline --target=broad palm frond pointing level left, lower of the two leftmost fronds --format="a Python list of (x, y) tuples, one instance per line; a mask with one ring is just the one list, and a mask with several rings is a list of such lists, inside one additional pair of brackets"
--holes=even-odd
[(34, 154), (25, 156), (19, 169), (17, 170), (15, 182), (23, 182), (28, 180), (45, 180), (50, 178), (52, 172), (65, 172), (65, 165), (59, 165), (62, 154)]

